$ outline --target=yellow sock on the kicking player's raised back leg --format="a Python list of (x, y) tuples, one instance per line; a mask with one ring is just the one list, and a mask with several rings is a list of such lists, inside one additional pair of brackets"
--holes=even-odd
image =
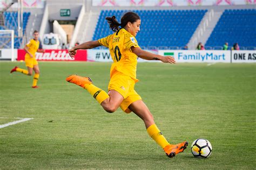
[(85, 84), (84, 88), (100, 103), (102, 103), (109, 95), (102, 89), (93, 84)]

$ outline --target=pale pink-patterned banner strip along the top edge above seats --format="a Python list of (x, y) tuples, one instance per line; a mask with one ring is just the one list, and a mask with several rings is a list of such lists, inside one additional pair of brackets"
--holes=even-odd
[(92, 0), (92, 6), (206, 6), (252, 5), (255, 0)]

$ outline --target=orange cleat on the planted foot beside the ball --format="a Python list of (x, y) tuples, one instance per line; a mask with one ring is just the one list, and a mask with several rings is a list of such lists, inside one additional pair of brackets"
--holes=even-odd
[(185, 148), (187, 148), (187, 145), (188, 145), (187, 141), (184, 141), (183, 143), (180, 143), (177, 145), (167, 145), (165, 146), (164, 151), (167, 157), (172, 158), (178, 153), (183, 152)]

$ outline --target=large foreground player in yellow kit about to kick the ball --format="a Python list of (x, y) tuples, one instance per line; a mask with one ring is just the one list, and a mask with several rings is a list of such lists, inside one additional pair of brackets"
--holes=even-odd
[[(140, 31), (140, 18), (134, 12), (127, 12), (118, 23), (115, 16), (107, 17), (113, 34), (96, 40), (84, 42), (70, 49), (71, 57), (75, 56), (77, 49), (90, 49), (98, 46), (108, 47), (113, 60), (110, 69), (109, 93), (92, 84), (89, 77), (71, 75), (66, 81), (75, 83), (86, 89), (107, 112), (114, 112), (120, 107), (124, 112), (133, 111), (137, 116), (143, 119), (147, 132), (157, 144), (165, 151), (168, 157), (174, 157), (183, 152), (187, 147), (187, 141), (177, 145), (171, 145), (165, 139), (163, 134), (154, 123), (153, 116), (142, 98), (134, 90), (136, 79), (137, 56), (145, 60), (160, 60), (162, 62), (175, 63), (171, 56), (161, 56), (143, 51), (135, 38)], [(120, 26), (120, 27), (119, 27)]]

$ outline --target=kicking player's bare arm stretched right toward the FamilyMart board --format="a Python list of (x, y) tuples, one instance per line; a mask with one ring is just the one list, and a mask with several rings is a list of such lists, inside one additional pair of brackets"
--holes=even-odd
[(144, 51), (139, 47), (131, 47), (131, 49), (134, 54), (136, 54), (139, 58), (142, 58), (144, 60), (160, 60), (161, 62), (176, 63), (176, 61), (172, 56), (161, 56), (161, 55), (153, 54), (153, 53)]

